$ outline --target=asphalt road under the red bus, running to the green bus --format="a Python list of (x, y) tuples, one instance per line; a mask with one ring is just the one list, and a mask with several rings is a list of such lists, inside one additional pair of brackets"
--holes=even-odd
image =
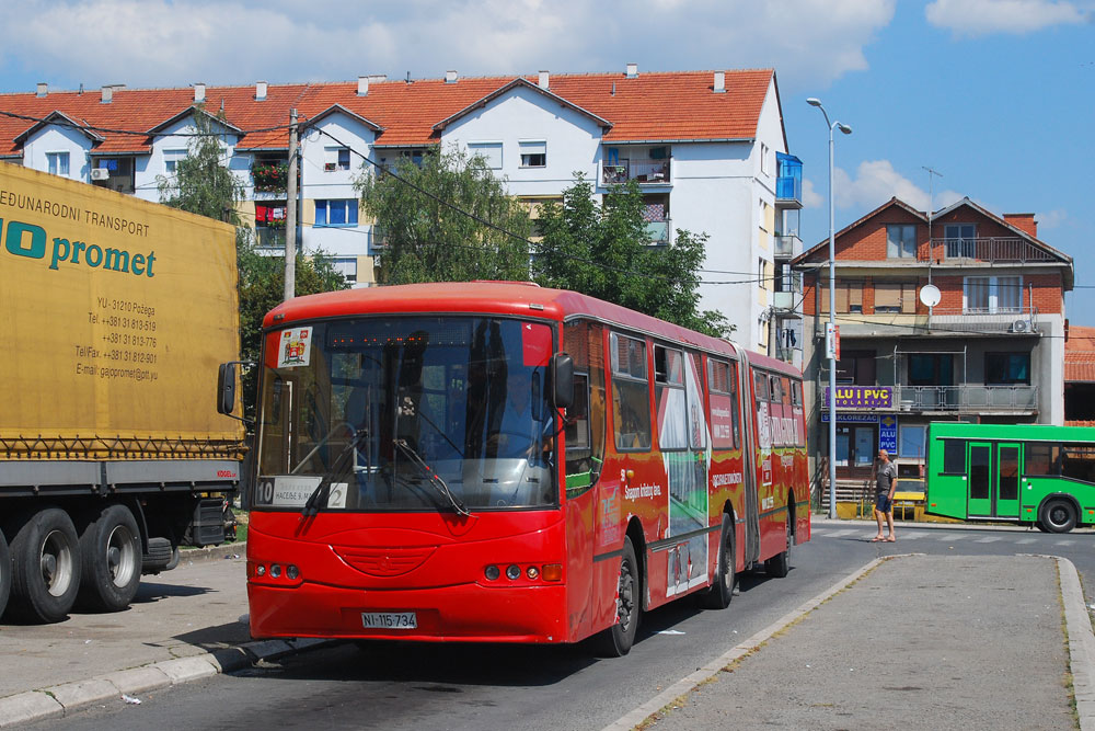
[(867, 524), (818, 523), (786, 579), (742, 576), (725, 612), (683, 603), (654, 612), (618, 660), (584, 646), (347, 643), (39, 728), (601, 729), (877, 556), (1049, 553), (1072, 560), (1095, 586), (1091, 533), (901, 526), (896, 544), (872, 544), (873, 535)]

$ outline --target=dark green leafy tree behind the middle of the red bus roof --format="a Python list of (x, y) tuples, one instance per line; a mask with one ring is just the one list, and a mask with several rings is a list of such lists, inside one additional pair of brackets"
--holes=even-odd
[(637, 183), (613, 190), (601, 207), (592, 194), (592, 184), (578, 174), (562, 203), (541, 208), (535, 281), (711, 335), (729, 335), (733, 325), (722, 312), (698, 310), (707, 236), (678, 230), (668, 245), (652, 247)]

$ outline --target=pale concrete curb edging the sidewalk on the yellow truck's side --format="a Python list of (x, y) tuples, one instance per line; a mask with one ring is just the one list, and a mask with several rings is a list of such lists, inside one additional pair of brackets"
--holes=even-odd
[[(161, 660), (149, 665), (115, 671), (85, 681), (74, 681), (38, 690), (27, 690), (0, 698), (0, 729), (15, 728), (32, 721), (60, 718), (104, 700), (125, 699), (170, 685), (242, 670), (264, 660), (312, 650), (339, 640), (260, 640), (235, 648), (214, 650), (192, 658)], [(126, 700), (132, 703), (132, 700)], [(140, 703), (137, 700), (137, 703)]]

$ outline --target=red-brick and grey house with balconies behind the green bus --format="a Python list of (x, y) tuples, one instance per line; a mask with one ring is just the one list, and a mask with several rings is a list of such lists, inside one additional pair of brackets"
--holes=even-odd
[[(828, 256), (826, 240), (792, 260), (818, 467), (829, 454)], [(1033, 214), (964, 198), (929, 216), (892, 198), (837, 233), (834, 262), (838, 495), (869, 484), (879, 448), (919, 476), (932, 421), (1063, 423), (1073, 264), (1038, 238)]]

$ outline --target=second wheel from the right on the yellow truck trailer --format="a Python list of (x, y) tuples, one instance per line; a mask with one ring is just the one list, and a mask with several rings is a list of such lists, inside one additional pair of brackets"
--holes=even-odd
[(68, 513), (45, 507), (11, 540), (12, 612), (31, 621), (60, 621), (80, 589), (80, 541)]

